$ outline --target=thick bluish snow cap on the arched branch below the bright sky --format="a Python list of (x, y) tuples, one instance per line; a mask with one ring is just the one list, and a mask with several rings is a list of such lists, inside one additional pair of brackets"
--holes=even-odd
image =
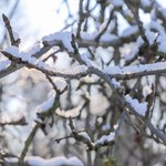
[(54, 45), (56, 43), (62, 42), (63, 46), (69, 52), (74, 52), (71, 45), (72, 41), (72, 32), (55, 32), (53, 34), (46, 35), (42, 38), (43, 42), (46, 42), (49, 45)]

